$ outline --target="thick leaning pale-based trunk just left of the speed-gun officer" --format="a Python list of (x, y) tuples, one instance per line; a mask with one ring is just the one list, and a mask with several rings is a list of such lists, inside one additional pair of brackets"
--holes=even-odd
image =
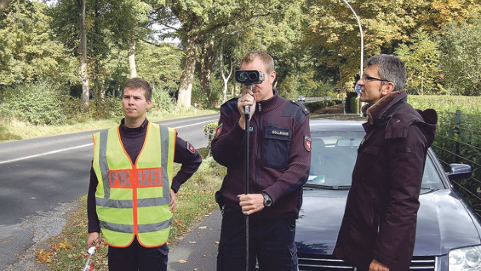
[(191, 106), (192, 83), (196, 69), (196, 44), (194, 39), (188, 38), (185, 50), (185, 65), (180, 76), (177, 106), (189, 109)]

